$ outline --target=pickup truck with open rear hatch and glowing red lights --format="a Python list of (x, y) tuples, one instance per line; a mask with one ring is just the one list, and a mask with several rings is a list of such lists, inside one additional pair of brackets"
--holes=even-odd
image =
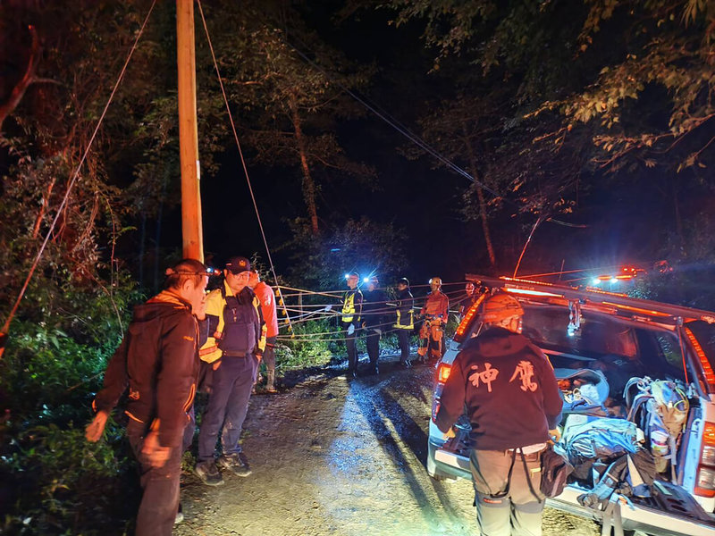
[[(715, 536), (715, 314), (542, 281), (474, 274), (467, 274), (467, 281), (474, 281), (484, 293), (509, 292), (519, 300), (525, 310), (523, 334), (549, 356), (557, 379), (564, 371), (596, 371), (605, 378), (609, 407), (601, 407), (610, 418), (629, 414), (624, 389), (631, 378), (649, 377), (682, 387), (687, 415), (676, 456), (670, 458), (675, 464), (660, 468), (653, 484), (658, 492), (650, 498), (614, 498), (625, 534)], [(477, 302), (467, 311), (435, 367), (426, 465), (436, 480), (471, 479), (471, 427), (466, 415), (454, 426), (451, 438), (436, 427), (434, 418), (461, 343), (481, 328), (478, 306)], [(598, 412), (593, 415), (565, 406), (562, 424), (600, 418)], [(645, 441), (644, 448), (651, 444)], [(603, 522), (600, 510), (577, 500), (588, 491), (583, 483), (571, 482), (558, 497), (548, 498), (547, 506)]]

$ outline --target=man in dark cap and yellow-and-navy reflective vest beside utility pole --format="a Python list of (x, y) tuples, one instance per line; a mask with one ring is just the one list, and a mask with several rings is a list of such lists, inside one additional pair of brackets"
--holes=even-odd
[[(198, 431), (198, 458), (195, 472), (201, 482), (223, 483), (218, 465), (239, 476), (251, 473), (240, 448), (248, 399), (265, 350), (265, 322), (261, 305), (248, 287), (251, 264), (246, 257), (234, 256), (223, 270), (221, 288), (206, 297), (206, 317), (216, 330), (198, 354), (212, 371), (211, 391)], [(222, 455), (215, 458), (218, 432)]]

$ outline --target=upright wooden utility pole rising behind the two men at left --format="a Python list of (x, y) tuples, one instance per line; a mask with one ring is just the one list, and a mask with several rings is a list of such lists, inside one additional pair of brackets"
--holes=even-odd
[(179, 67), (179, 144), (181, 155), (181, 234), (183, 256), (204, 262), (201, 191), (198, 186), (194, 0), (176, 0), (176, 59)]

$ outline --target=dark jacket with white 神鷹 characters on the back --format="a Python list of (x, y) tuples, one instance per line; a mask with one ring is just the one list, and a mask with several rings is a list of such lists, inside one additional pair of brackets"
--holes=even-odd
[(523, 335), (495, 327), (469, 339), (455, 358), (437, 427), (447, 432), (465, 406), (469, 446), (507, 450), (548, 440), (562, 401), (548, 357)]

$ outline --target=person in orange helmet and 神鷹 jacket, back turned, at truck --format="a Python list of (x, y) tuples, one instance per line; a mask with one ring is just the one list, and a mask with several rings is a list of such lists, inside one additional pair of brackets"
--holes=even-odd
[(455, 358), (437, 427), (450, 435), (467, 406), (476, 520), (486, 536), (540, 536), (541, 454), (561, 418), (549, 358), (521, 335), (524, 309), (495, 294), (480, 306), (484, 331)]

